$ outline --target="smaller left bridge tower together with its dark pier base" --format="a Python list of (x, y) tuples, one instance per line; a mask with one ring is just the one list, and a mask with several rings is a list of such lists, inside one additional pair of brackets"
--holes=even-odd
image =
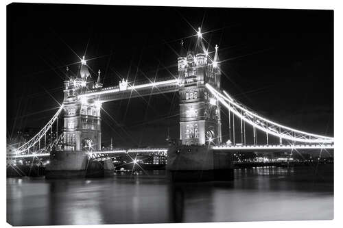
[(97, 81), (88, 79), (91, 74), (84, 58), (78, 73), (64, 80), (64, 151), (51, 151), (45, 178), (105, 177), (113, 175), (111, 160), (96, 161), (88, 152), (101, 150), (102, 103), (99, 97), (87, 98), (88, 90), (102, 88), (100, 71)]

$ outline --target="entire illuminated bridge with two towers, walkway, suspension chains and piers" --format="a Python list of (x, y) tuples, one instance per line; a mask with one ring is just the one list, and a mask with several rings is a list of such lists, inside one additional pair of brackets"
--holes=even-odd
[[(110, 87), (104, 87), (101, 83), (100, 71), (97, 81), (91, 80), (91, 73), (83, 58), (76, 76), (72, 76), (67, 69), (67, 77), (64, 80), (64, 100), (58, 112), (36, 136), (17, 148), (16, 154), (12, 157), (47, 156), (53, 146), (62, 142), (58, 153), (59, 159), (65, 160), (66, 163), (62, 168), (73, 169), (73, 161), (83, 162), (80, 155), (97, 157), (113, 153), (152, 153), (154, 149), (102, 151), (102, 103), (167, 92), (178, 92), (180, 97), (180, 138), (168, 149), (163, 149), (168, 153), (167, 169), (169, 170), (230, 169), (226, 165), (221, 165), (223, 162), (230, 162), (230, 157), (225, 155), (230, 151), (333, 149), (333, 138), (292, 129), (270, 121), (222, 90), (218, 47), (215, 46), (213, 57), (209, 55), (209, 48), (205, 47), (199, 30), (195, 47), (187, 52), (182, 47), (178, 58), (177, 75), (140, 84), (122, 79), (118, 86)], [(222, 137), (221, 110), (228, 112), (229, 138), (225, 140), (226, 142), (223, 142)], [(54, 142), (50, 140), (51, 143), (47, 145), (47, 133), (51, 133), (53, 129), (58, 132), (60, 114), (63, 114), (63, 134), (56, 137)], [(246, 133), (246, 124), (252, 127), (251, 133)], [(259, 139), (259, 142), (257, 131), (265, 135), (265, 138)], [(252, 143), (246, 140), (246, 134), (252, 134)], [(271, 137), (276, 138), (279, 143), (270, 144)], [(211, 151), (210, 157), (208, 157), (209, 151)], [(58, 162), (52, 163), (51, 166), (60, 167)], [(81, 165), (77, 167), (80, 168)]]

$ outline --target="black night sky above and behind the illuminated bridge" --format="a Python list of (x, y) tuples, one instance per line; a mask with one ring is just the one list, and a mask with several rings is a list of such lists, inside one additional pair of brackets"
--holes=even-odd
[[(180, 40), (188, 47), (200, 26), (210, 51), (220, 46), (224, 90), (272, 121), (333, 136), (332, 10), (13, 3), (7, 23), (8, 136), (49, 121), (78, 55), (86, 51), (104, 86), (168, 77), (177, 74)], [(179, 137), (177, 93), (103, 107), (104, 145), (113, 137), (117, 147), (164, 146), (168, 128)]]

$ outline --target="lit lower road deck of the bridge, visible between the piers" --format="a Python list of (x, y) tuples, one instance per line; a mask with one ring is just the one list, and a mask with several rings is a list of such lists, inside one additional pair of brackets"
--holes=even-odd
[[(220, 151), (278, 151), (278, 150), (311, 150), (311, 149), (333, 149), (333, 144), (289, 144), (289, 145), (232, 145), (232, 146), (214, 146), (213, 150)], [(94, 151), (88, 152), (92, 157), (102, 157), (110, 154), (128, 154), (128, 153), (162, 153), (167, 154), (167, 148), (152, 148), (152, 149), (115, 149), (111, 151)], [(25, 157), (47, 157), (50, 153), (30, 153), (23, 155), (10, 155), (14, 159)]]

